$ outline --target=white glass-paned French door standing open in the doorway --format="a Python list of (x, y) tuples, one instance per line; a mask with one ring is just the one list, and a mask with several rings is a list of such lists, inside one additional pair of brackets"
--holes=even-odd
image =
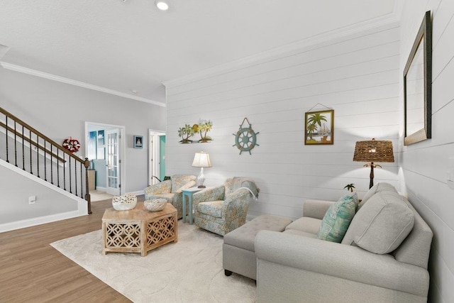
[(118, 196), (121, 194), (121, 133), (118, 128), (106, 131), (106, 192)]

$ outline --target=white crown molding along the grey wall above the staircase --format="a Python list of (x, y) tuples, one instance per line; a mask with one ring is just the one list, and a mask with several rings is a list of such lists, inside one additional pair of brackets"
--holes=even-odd
[(106, 94), (114, 94), (114, 95), (119, 96), (119, 97), (123, 97), (123, 98), (127, 98), (127, 99), (133, 99), (133, 100), (137, 100), (137, 101), (142, 101), (142, 102), (154, 104), (154, 105), (157, 105), (157, 106), (162, 106), (162, 107), (166, 106), (166, 104), (164, 104), (162, 102), (154, 101), (154, 100), (143, 98), (143, 97), (134, 96), (132, 94), (125, 94), (123, 92), (118, 92), (118, 91), (116, 91), (114, 89), (107, 89), (106, 87), (99, 87), (97, 85), (88, 84), (88, 83), (85, 83), (85, 82), (80, 82), (80, 81), (77, 81), (77, 80), (73, 80), (73, 79), (69, 79), (69, 78), (65, 78), (65, 77), (60, 77), (60, 76), (57, 76), (57, 75), (48, 74), (47, 72), (40, 72), (39, 70), (32, 70), (31, 68), (22, 67), (22, 66), (19, 66), (19, 65), (13, 65), (13, 64), (8, 63), (8, 62), (0, 61), (0, 65), (2, 67), (4, 67), (6, 70), (13, 70), (15, 72), (21, 72), (23, 74), (32, 75), (32, 76), (35, 76), (35, 77), (41, 77), (41, 78), (45, 78), (45, 79), (50, 79), (52, 81), (62, 82), (62, 83), (74, 85), (74, 86), (77, 86), (77, 87), (84, 87), (86, 89), (92, 89), (92, 90), (95, 90), (95, 91), (98, 91), (98, 92), (104, 92)]

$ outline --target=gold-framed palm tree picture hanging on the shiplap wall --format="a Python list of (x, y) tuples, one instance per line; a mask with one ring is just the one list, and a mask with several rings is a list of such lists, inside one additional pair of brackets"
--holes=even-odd
[(304, 114), (304, 144), (334, 143), (334, 110), (308, 111)]

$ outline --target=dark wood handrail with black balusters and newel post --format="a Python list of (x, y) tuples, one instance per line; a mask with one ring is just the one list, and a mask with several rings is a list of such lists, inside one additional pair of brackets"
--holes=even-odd
[[(4, 152), (6, 153), (6, 162), (9, 162), (9, 149), (13, 149), (13, 155), (11, 155), (11, 158), (12, 160), (14, 160), (16, 167), (21, 164), (20, 162), (18, 163), (18, 154), (22, 154), (23, 170), (29, 170), (29, 172), (33, 175), (33, 168), (35, 168), (37, 169), (37, 177), (40, 177), (41, 168), (44, 170), (44, 177), (40, 177), (41, 179), (50, 182), (51, 184), (54, 184), (54, 180), (56, 180), (57, 184), (54, 185), (56, 185), (57, 187), (60, 187), (60, 182), (62, 182), (63, 189), (67, 192), (70, 192), (71, 194), (75, 194), (76, 196), (78, 196), (79, 188), (80, 197), (84, 195), (84, 199), (87, 200), (88, 213), (92, 214), (91, 197), (89, 194), (88, 184), (88, 158), (81, 159), (76, 155), (73, 155), (69, 150), (63, 148), (59, 143), (56, 143), (48, 136), (45, 136), (40, 131), (37, 131), (35, 128), (33, 128), (33, 126), (30, 126), (28, 123), (22, 121), (21, 119), (18, 119), (18, 117), (14, 116), (9, 111), (2, 109), (1, 107), (0, 113), (4, 114), (6, 119), (5, 123), (3, 121), (0, 121), (0, 127), (4, 128), (6, 131), (6, 144), (4, 146)], [(11, 119), (11, 123), (9, 123), (9, 119)], [(12, 123), (13, 128), (9, 126), (9, 124), (11, 125)], [(16, 129), (16, 125), (19, 126), (19, 129), (22, 128), (22, 131)], [(27, 130), (27, 132), (25, 132), (25, 129)], [(11, 143), (11, 145), (9, 144), (8, 140), (9, 132), (13, 135), (13, 143)], [(28, 137), (27, 133), (30, 133)], [(32, 133), (33, 136), (36, 136), (36, 141), (32, 139)], [(40, 144), (40, 141), (43, 144)], [(28, 142), (30, 144), (29, 148), (24, 148), (25, 142)], [(20, 149), (18, 149), (17, 144), (19, 144)], [(32, 145), (35, 146), (36, 150), (32, 150)], [(36, 156), (33, 158), (32, 154)], [(40, 155), (44, 155), (44, 162), (40, 163)], [(28, 161), (28, 157), (30, 158), (30, 165), (26, 167), (25, 158), (27, 158)], [(65, 157), (67, 157), (68, 159), (65, 159)], [(35, 160), (35, 162), (33, 162), (33, 160)], [(74, 167), (72, 167), (71, 160), (74, 160)], [(52, 163), (56, 161), (62, 162), (63, 165), (52, 165)], [(77, 162), (79, 162), (79, 164), (77, 164)], [(79, 171), (77, 165), (80, 165)], [(82, 178), (82, 165), (85, 167), (84, 185)], [(68, 166), (68, 170), (66, 169), (66, 166)], [(50, 180), (48, 180), (48, 177), (50, 177)], [(67, 182), (67, 179), (69, 180), (69, 182)], [(69, 190), (67, 190), (66, 188), (67, 184), (69, 185)], [(74, 185), (75, 193), (72, 192), (72, 185)]]

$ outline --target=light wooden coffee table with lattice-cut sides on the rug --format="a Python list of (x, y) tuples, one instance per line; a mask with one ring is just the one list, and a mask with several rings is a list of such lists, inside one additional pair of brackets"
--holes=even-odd
[(177, 209), (167, 203), (162, 211), (148, 211), (142, 202), (130, 211), (106, 209), (102, 217), (102, 253), (140, 253), (178, 241)]

